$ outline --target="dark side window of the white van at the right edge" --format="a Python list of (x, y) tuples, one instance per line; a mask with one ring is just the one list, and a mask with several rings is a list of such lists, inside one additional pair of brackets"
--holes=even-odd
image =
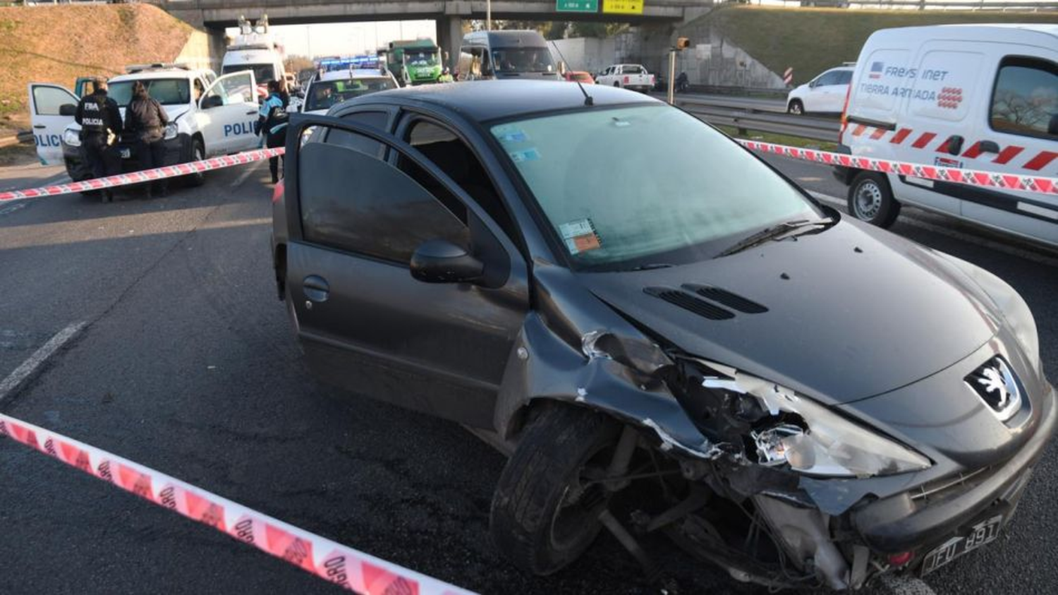
[(989, 121), (999, 132), (1058, 140), (1058, 66), (1032, 58), (1003, 60)]

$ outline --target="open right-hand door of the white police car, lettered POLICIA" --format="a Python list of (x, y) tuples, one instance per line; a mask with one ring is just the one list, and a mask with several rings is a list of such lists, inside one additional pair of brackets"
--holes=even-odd
[(225, 74), (213, 82), (196, 112), (206, 156), (256, 148), (257, 82), (253, 71)]

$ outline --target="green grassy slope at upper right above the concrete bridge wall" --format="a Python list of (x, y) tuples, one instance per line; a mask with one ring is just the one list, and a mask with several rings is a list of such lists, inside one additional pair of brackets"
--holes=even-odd
[(794, 67), (794, 83), (806, 83), (820, 72), (854, 61), (860, 48), (879, 29), (926, 24), (1045, 22), (1058, 23), (1058, 13), (969, 11), (860, 11), (720, 5), (694, 23), (708, 22), (772, 72)]

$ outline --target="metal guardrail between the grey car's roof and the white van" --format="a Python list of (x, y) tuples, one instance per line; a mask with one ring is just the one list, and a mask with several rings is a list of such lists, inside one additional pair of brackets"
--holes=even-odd
[(738, 106), (736, 102), (676, 97), (676, 106), (699, 120), (717, 126), (733, 126), (741, 134), (756, 130), (828, 143), (838, 141), (841, 123), (835, 119), (762, 111), (751, 106)]

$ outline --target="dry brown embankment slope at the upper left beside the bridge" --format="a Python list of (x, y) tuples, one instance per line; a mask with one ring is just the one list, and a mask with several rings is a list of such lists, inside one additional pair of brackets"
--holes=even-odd
[(78, 76), (171, 61), (190, 25), (148, 4), (0, 7), (0, 137), (30, 127), (30, 83), (73, 89)]

